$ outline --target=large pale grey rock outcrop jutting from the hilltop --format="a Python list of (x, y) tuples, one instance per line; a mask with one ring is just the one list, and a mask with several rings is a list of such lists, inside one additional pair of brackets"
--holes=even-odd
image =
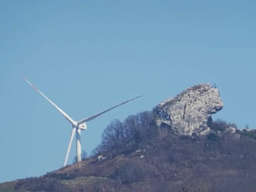
[(211, 114), (223, 107), (218, 89), (207, 83), (190, 87), (161, 102), (154, 115), (160, 128), (171, 127), (182, 135), (206, 135), (210, 132)]

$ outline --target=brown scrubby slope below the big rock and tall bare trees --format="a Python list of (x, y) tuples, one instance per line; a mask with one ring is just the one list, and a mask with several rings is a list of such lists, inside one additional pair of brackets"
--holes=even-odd
[[(5, 191), (255, 192), (256, 140), (159, 135), (128, 154), (96, 156), (39, 178), (0, 185)], [(15, 190), (6, 190), (14, 187)]]

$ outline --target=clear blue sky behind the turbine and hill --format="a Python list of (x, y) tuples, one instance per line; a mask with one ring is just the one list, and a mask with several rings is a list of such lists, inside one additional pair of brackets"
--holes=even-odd
[[(221, 118), (256, 128), (255, 0), (0, 1), (0, 182), (62, 166), (73, 119), (88, 153), (111, 120), (216, 83)], [(73, 143), (69, 163), (75, 156)]]

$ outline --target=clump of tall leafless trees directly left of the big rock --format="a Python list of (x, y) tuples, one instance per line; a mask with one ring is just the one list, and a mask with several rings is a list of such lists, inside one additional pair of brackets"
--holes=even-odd
[(123, 122), (116, 119), (102, 133), (102, 142), (93, 154), (127, 154), (149, 143), (158, 133), (150, 111), (130, 115)]

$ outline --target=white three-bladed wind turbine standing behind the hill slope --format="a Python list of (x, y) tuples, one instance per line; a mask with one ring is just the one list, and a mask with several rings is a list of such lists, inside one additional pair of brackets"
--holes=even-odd
[(135, 100), (139, 97), (141, 97), (142, 95), (135, 97), (133, 99), (127, 100), (125, 102), (122, 102), (118, 105), (115, 105), (114, 107), (111, 107), (109, 109), (106, 109), (100, 113), (97, 113), (95, 115), (92, 115), (90, 117), (87, 117), (85, 119), (82, 119), (80, 121), (74, 121), (73, 119), (71, 119), (70, 116), (68, 116), (68, 114), (66, 114), (62, 109), (60, 109), (54, 102), (52, 102), (51, 100), (49, 100), (42, 92), (40, 92), (40, 90), (38, 88), (36, 88), (32, 83), (30, 83), (25, 77), (23, 77), (24, 80), (26, 82), (28, 82), (29, 85), (31, 85), (36, 91), (38, 91), (43, 97), (45, 97), (45, 99), (47, 99), (56, 109), (58, 109), (58, 111), (71, 123), (72, 125), (72, 131), (71, 131), (71, 136), (69, 139), (69, 146), (68, 149), (66, 151), (66, 157), (65, 157), (65, 161), (64, 161), (64, 165), (66, 166), (68, 158), (69, 158), (69, 153), (70, 153), (70, 149), (71, 149), (71, 144), (73, 141), (73, 137), (76, 133), (76, 162), (80, 162), (81, 161), (81, 130), (86, 130), (87, 129), (87, 125), (86, 122), (91, 121), (92, 119), (97, 118), (98, 116), (101, 116), (102, 114), (106, 113), (107, 111), (110, 111), (111, 109), (114, 109), (116, 107), (119, 107), (120, 105), (123, 105), (127, 102), (130, 102), (132, 100)]

